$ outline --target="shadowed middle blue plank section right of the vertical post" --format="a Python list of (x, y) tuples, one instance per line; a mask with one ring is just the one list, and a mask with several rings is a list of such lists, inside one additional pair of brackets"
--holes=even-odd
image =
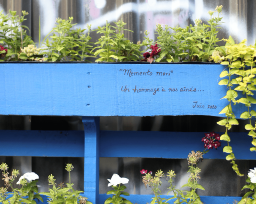
[[(244, 132), (229, 136), (237, 159), (255, 159), (250, 151), (252, 137)], [(102, 131), (100, 156), (186, 159), (190, 151), (204, 150), (203, 137), (203, 132)], [(227, 142), (221, 141), (221, 147), (211, 149), (204, 158), (225, 159), (225, 146)]]

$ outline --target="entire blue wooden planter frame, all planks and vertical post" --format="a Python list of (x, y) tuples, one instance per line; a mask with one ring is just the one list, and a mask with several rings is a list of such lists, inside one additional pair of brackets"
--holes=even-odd
[[(98, 116), (224, 117), (219, 112), (228, 101), (220, 98), (226, 95), (227, 88), (218, 85), (223, 69), (225, 66), (218, 64), (1, 63), (0, 115), (83, 116), (84, 131), (1, 131), (4, 145), (0, 155), (85, 157), (85, 196), (93, 203), (103, 203), (107, 196), (99, 194), (99, 157), (187, 158), (195, 141), (191, 138), (202, 133), (100, 132)], [(246, 110), (237, 104), (233, 111), (239, 116)], [(174, 134), (179, 137), (172, 137)], [(249, 150), (251, 138), (239, 140), (241, 149), (236, 150), (235, 140), (241, 134), (247, 133), (232, 135), (234, 152), (239, 151), (235, 152), (237, 159), (254, 159)], [(168, 147), (156, 142), (155, 151), (149, 151), (150, 144), (145, 141), (155, 137), (172, 142), (166, 142)], [(189, 138), (191, 143), (181, 142)], [(120, 147), (124, 139), (127, 148)], [(67, 155), (67, 147), (72, 155)], [(218, 151), (209, 152), (205, 158), (225, 157)], [(145, 203), (150, 198), (131, 195), (129, 200)], [(202, 197), (205, 203), (232, 203), (234, 199), (240, 198)]]

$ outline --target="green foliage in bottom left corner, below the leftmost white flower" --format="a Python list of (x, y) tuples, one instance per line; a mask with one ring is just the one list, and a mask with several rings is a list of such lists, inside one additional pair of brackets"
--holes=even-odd
[[(19, 175), (19, 171), (13, 170), (12, 175), (9, 176), (7, 172), (8, 166), (5, 163), (0, 165), (0, 169), (3, 172), (3, 180), (5, 187), (0, 188), (0, 202), (4, 204), (8, 203), (31, 203), (36, 204), (35, 199), (42, 201), (43, 199), (38, 194), (37, 181), (27, 182), (26, 179), (21, 179), (21, 189), (13, 188), (13, 182)], [(11, 188), (11, 192), (7, 193)]]

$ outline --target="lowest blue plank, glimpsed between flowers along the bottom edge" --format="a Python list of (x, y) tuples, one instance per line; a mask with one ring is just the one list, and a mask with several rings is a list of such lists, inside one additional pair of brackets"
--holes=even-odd
[[(110, 196), (107, 194), (100, 194), (100, 203), (104, 203)], [(145, 204), (150, 203), (153, 195), (134, 195), (124, 196), (124, 198), (130, 200), (132, 203)], [(172, 196), (163, 196), (163, 198), (171, 198)], [(221, 197), (221, 196), (201, 196), (201, 201), (206, 204), (232, 204), (234, 200), (240, 201), (242, 197)], [(175, 200), (170, 200), (168, 203), (173, 203)]]

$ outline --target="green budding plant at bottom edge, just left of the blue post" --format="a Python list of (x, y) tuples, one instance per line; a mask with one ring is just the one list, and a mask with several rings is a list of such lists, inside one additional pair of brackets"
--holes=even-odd
[(73, 183), (70, 182), (70, 172), (74, 169), (73, 165), (67, 164), (66, 168), (67, 172), (69, 172), (69, 183), (67, 183), (67, 187), (65, 187), (62, 183), (59, 185), (59, 187), (56, 187), (55, 179), (53, 175), (48, 176), (48, 182), (49, 185), (52, 185), (52, 189), (49, 189), (48, 192), (42, 192), (39, 193), (41, 195), (47, 196), (48, 200), (47, 202), (50, 204), (56, 204), (56, 203), (87, 203), (92, 204), (92, 202), (87, 201), (87, 198), (80, 196), (80, 193), (83, 193), (83, 191), (75, 191), (73, 189)]

